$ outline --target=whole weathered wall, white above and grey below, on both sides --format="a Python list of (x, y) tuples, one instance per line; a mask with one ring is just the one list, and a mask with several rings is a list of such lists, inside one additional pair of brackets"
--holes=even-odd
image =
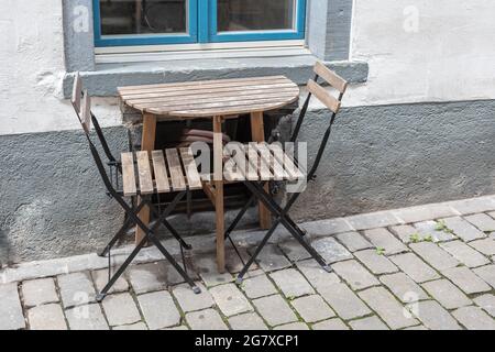
[[(95, 251), (121, 220), (63, 99), (62, 3), (0, 1), (3, 263)], [(299, 218), (495, 191), (494, 13), (485, 0), (354, 1), (350, 55), (370, 76), (344, 100)], [(324, 128), (319, 108), (302, 140)], [(94, 109), (116, 150), (125, 147), (117, 99)]]

